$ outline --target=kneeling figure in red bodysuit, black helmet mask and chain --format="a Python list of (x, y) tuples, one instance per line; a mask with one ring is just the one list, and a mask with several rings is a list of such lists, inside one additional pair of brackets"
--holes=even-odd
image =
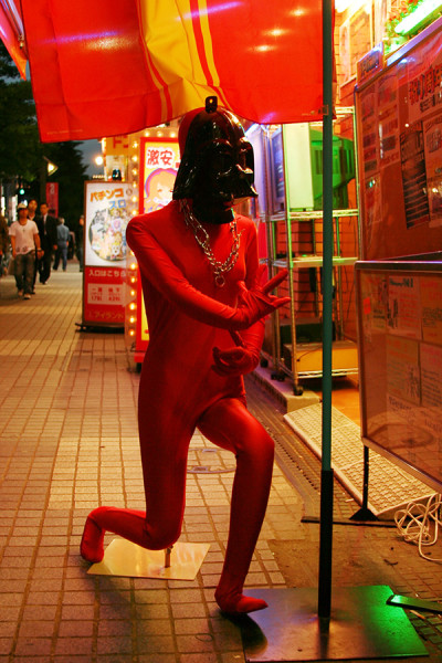
[(236, 456), (229, 541), (215, 600), (238, 614), (265, 601), (242, 593), (265, 515), (273, 441), (245, 407), (243, 373), (259, 361), (265, 315), (285, 304), (260, 274), (254, 223), (232, 206), (256, 196), (253, 152), (238, 119), (217, 109), (185, 116), (172, 202), (134, 218), (126, 231), (140, 270), (149, 346), (138, 423), (146, 512), (103, 506), (87, 517), (81, 554), (103, 558), (106, 530), (148, 549), (180, 536), (191, 436)]

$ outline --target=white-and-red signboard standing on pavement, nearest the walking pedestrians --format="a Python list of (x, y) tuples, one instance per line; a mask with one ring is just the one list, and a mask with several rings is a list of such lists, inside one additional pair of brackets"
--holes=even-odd
[(83, 322), (124, 327), (126, 228), (133, 186), (119, 181), (85, 185)]

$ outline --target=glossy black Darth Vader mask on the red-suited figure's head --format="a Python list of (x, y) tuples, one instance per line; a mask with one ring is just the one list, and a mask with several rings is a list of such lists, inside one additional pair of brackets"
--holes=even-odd
[(253, 148), (236, 117), (208, 97), (206, 108), (188, 113), (180, 126), (181, 164), (173, 199), (191, 199), (201, 220), (225, 223), (231, 208), (257, 196)]

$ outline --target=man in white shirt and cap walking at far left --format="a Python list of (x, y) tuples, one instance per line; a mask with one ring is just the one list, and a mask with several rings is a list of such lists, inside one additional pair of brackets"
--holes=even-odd
[(33, 290), (35, 249), (39, 259), (43, 252), (40, 246), (36, 223), (28, 219), (28, 206), (20, 202), (18, 212), (19, 220), (11, 224), (9, 235), (19, 297), (23, 295), (23, 299), (30, 299)]

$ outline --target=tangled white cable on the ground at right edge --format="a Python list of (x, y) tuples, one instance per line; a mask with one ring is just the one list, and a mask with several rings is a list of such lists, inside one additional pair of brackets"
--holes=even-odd
[(399, 534), (408, 543), (419, 546), (419, 555), (429, 561), (442, 564), (442, 559), (429, 557), (422, 550), (423, 546), (433, 546), (438, 540), (438, 529), (442, 525), (440, 508), (442, 495), (434, 493), (427, 503), (409, 502), (406, 508), (394, 514)]

